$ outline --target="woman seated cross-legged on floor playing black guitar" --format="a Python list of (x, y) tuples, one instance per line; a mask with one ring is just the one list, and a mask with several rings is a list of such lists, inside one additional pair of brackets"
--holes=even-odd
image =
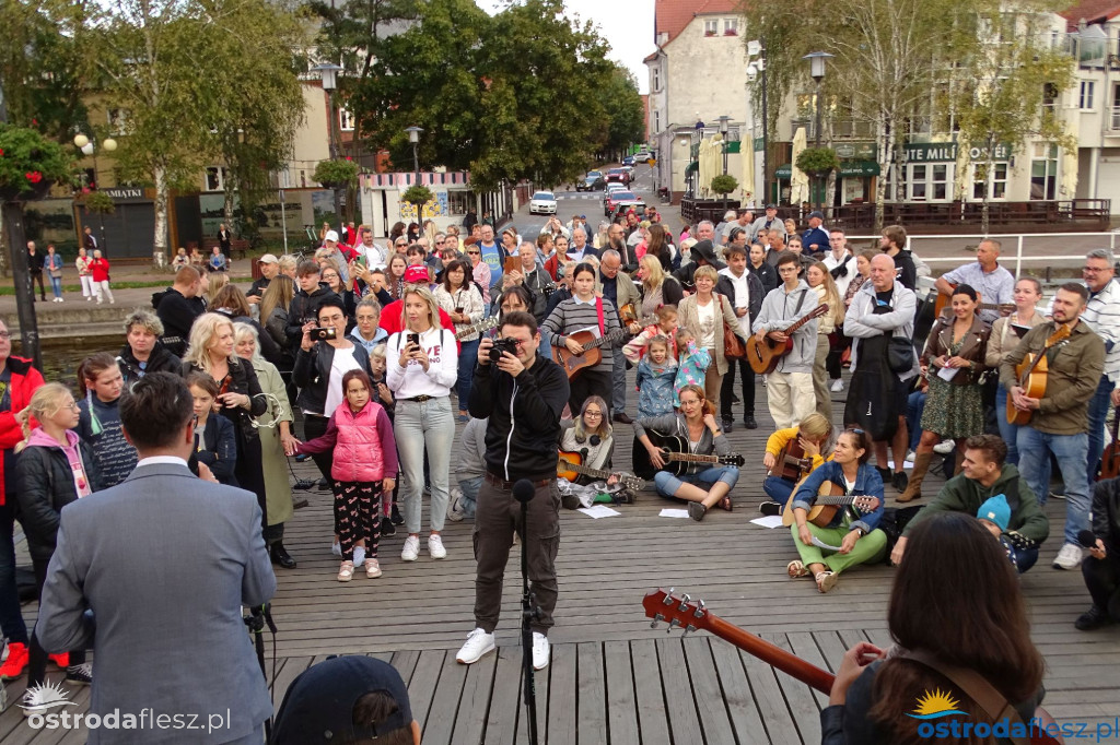
[[(731, 445), (716, 423), (716, 408), (704, 399), (703, 389), (700, 386), (684, 386), (680, 390), (680, 397), (681, 408), (676, 414), (634, 421), (634, 436), (646, 449), (650, 462), (657, 469), (665, 465), (661, 449), (653, 444), (646, 430), (685, 440), (690, 453), (694, 455), (730, 455)], [(720, 509), (731, 511), (731, 489), (738, 480), (739, 469), (734, 465), (700, 463), (690, 465), (681, 477), (659, 470), (653, 477), (653, 484), (662, 497), (687, 501), (689, 517), (700, 521), (717, 504)]]

